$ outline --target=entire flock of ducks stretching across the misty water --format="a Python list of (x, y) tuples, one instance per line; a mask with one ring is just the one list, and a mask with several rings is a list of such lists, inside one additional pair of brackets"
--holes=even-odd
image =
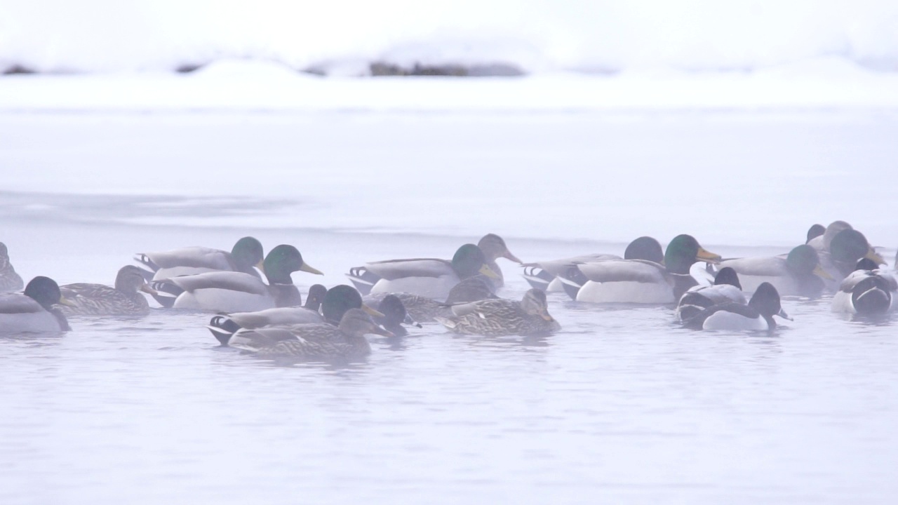
[[(520, 300), (497, 297), (504, 286), (497, 259), (523, 268), (531, 287)], [(547, 292), (588, 303), (670, 304), (697, 330), (769, 331), (789, 319), (780, 296), (832, 292), (832, 310), (879, 315), (894, 309), (894, 270), (867, 238), (844, 221), (812, 226), (805, 244), (770, 257), (724, 259), (691, 235), (662, 250), (652, 237), (629, 244), (623, 257), (587, 253), (523, 262), (495, 234), (463, 244), (451, 260), (373, 261), (351, 268), (353, 286), (315, 284), (305, 303), (292, 274), (321, 275), (292, 245), (266, 255), (251, 237), (230, 252), (185, 247), (139, 253), (140, 267), (119, 270), (115, 286), (67, 284), (36, 277), (27, 286), (0, 243), (0, 334), (64, 332), (72, 315), (149, 314), (144, 292), (164, 309), (214, 313), (207, 329), (224, 346), (267, 359), (359, 359), (366, 334), (407, 334), (405, 326), (440, 323), (450, 332), (501, 336), (556, 332)], [(898, 257), (896, 257), (898, 262)], [(704, 265), (702, 267), (702, 265)], [(14, 291), (22, 290), (22, 293)], [(748, 297), (750, 295), (750, 297)]]

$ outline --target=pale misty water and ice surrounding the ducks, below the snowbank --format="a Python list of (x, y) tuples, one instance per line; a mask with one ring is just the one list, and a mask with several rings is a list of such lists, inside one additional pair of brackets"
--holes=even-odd
[[(254, 235), (324, 277), (524, 261), (695, 235), (784, 253), (846, 219), (894, 257), (889, 114), (11, 114), (3, 240), (22, 277), (111, 283), (134, 253)], [(79, 176), (74, 177), (73, 174)], [(88, 176), (89, 175), (89, 176)], [(876, 182), (859, 184), (858, 181)], [(499, 261), (504, 297), (527, 287)], [(371, 337), (348, 367), (217, 347), (209, 315), (73, 318), (0, 337), (0, 501), (887, 503), (894, 316), (786, 298), (772, 334), (552, 294), (562, 331)]]

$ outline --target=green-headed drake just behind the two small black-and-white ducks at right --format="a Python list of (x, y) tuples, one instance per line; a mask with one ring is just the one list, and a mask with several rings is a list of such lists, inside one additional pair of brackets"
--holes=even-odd
[(780, 296), (820, 297), (823, 279), (832, 275), (820, 264), (814, 247), (801, 244), (783, 256), (753, 256), (720, 261), (720, 268), (735, 270), (745, 291), (753, 292), (762, 282), (770, 282)]

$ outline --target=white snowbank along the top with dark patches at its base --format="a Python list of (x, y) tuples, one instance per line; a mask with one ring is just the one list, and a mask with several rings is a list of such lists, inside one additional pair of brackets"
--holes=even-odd
[[(529, 73), (755, 70), (838, 56), (898, 69), (893, 0), (0, 0), (0, 67), (171, 71), (507, 63)], [(351, 70), (355, 68), (356, 70)]]

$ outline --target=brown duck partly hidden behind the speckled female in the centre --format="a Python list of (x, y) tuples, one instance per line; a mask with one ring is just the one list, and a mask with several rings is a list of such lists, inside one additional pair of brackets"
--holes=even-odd
[(449, 296), (445, 302), (439, 302), (433, 298), (421, 297), (411, 293), (374, 293), (365, 297), (365, 303), (375, 306), (384, 297), (393, 296), (399, 298), (402, 306), (409, 313), (409, 317), (418, 323), (436, 323), (437, 315), (448, 317), (452, 315), (450, 306), (496, 298), (493, 292), (493, 284), (489, 278), (483, 275), (475, 275), (463, 279), (449, 290)]

